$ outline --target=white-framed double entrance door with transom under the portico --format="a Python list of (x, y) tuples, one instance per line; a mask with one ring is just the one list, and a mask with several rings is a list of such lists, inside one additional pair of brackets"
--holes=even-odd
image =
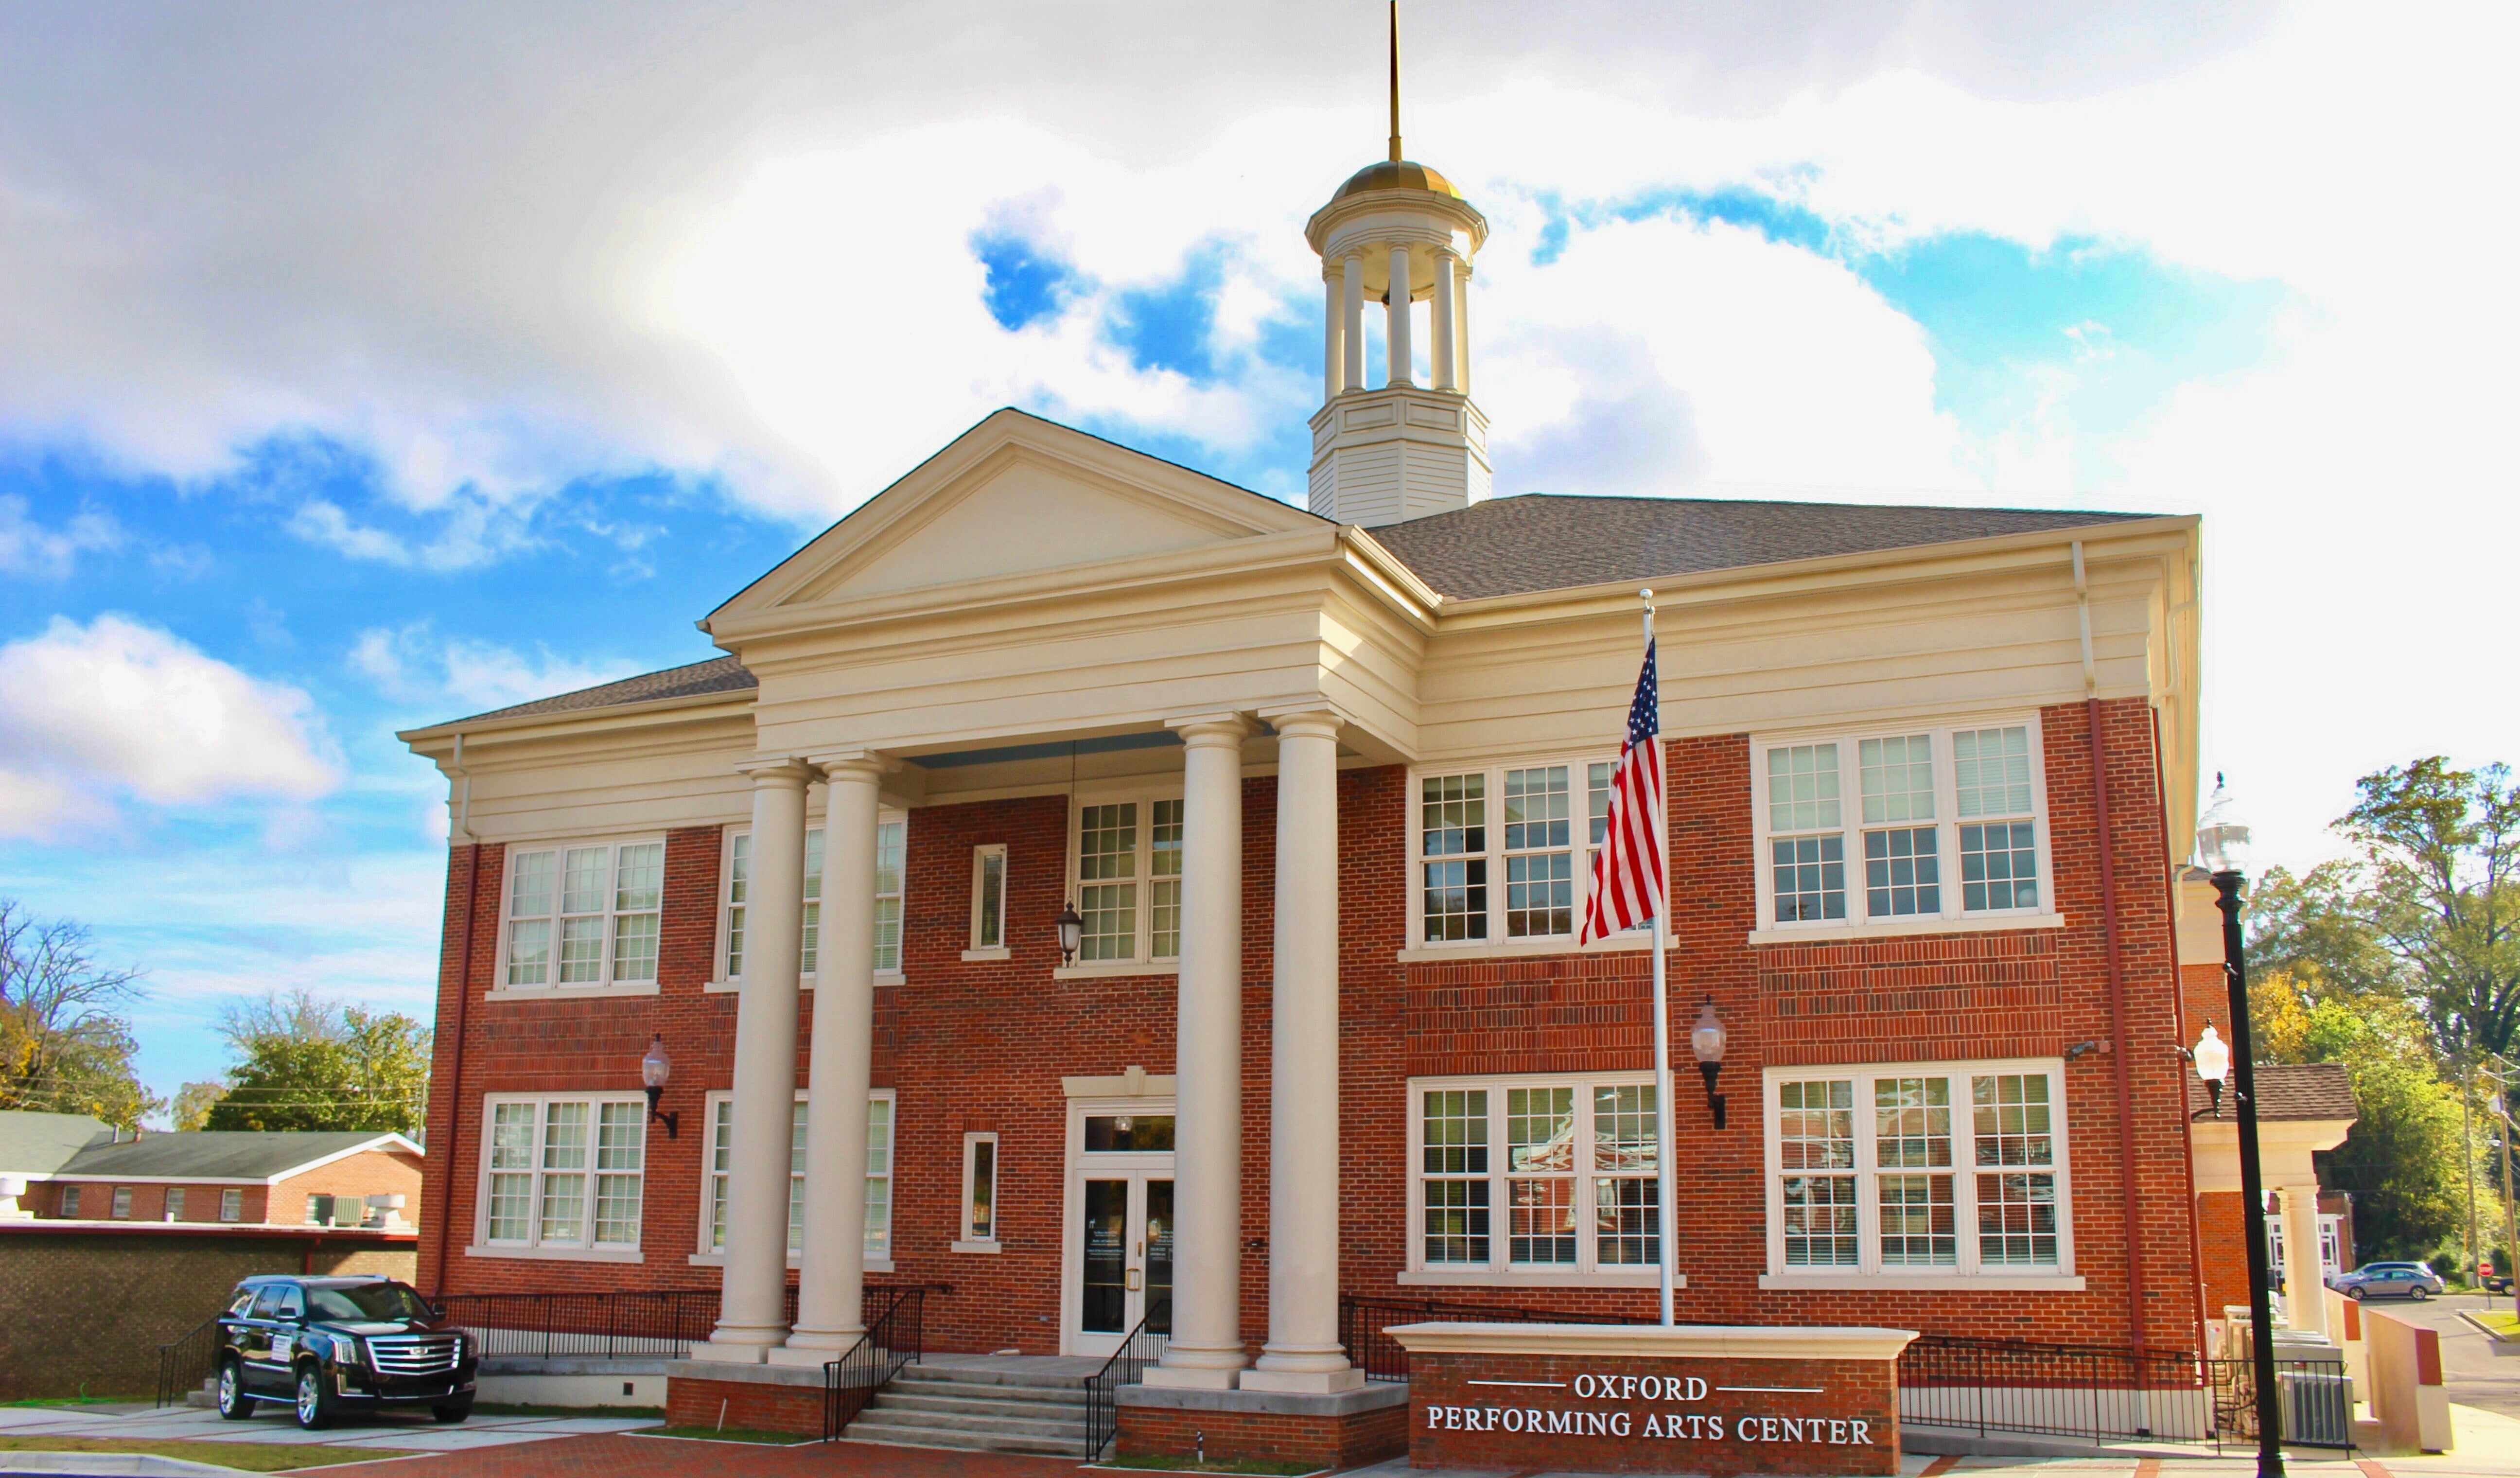
[(1068, 1125), (1068, 1354), (1111, 1354), (1139, 1322), (1172, 1327), (1172, 1102), (1084, 1107)]

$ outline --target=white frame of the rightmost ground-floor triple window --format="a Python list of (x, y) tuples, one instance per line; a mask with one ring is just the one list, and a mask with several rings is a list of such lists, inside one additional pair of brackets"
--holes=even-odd
[[(1976, 1125), (1971, 1112), (1968, 1079), (1973, 1074), (2016, 1072), (2046, 1074), (2049, 1079), (2049, 1132), (2054, 1143), (2051, 1168), (2056, 1173), (2056, 1266), (2054, 1269), (1993, 1269), (1978, 1271), (1978, 1175), (1971, 1155)], [(1779, 1082), (1855, 1079), (1855, 1246), (1852, 1269), (1797, 1269), (1784, 1266), (1784, 1153), (1777, 1143)], [(1880, 1153), (1872, 1125), (1872, 1079), (1877, 1077), (1948, 1077), (1953, 1079), (1950, 1105), (1950, 1216), (1958, 1238), (1958, 1264), (1950, 1269), (1882, 1269), (1880, 1264)], [(2066, 1079), (2061, 1057), (1988, 1057), (1963, 1062), (1814, 1062), (1804, 1067), (1767, 1067), (1759, 1074), (1759, 1138), (1761, 1175), (1767, 1178), (1767, 1271), (1761, 1289), (2044, 1289), (2082, 1291), (2084, 1279), (2074, 1274), (2074, 1168), (2066, 1110)]]

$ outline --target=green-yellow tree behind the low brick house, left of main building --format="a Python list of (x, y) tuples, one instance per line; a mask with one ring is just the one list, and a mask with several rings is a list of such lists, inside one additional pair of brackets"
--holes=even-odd
[(312, 991), (267, 994), (219, 1014), (242, 1062), (209, 1105), (212, 1130), (398, 1130), (428, 1117), (428, 1029)]

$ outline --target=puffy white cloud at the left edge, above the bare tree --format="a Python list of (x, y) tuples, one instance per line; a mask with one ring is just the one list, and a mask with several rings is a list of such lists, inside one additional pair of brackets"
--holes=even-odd
[(0, 646), (0, 835), (111, 825), (123, 800), (307, 802), (340, 784), (305, 691), (121, 615)]

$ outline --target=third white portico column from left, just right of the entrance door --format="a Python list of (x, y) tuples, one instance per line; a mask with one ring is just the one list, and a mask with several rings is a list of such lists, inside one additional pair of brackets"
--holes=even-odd
[(1242, 1354), (1242, 736), (1182, 734), (1182, 976), (1172, 1110), (1172, 1339), (1147, 1385), (1232, 1390)]

